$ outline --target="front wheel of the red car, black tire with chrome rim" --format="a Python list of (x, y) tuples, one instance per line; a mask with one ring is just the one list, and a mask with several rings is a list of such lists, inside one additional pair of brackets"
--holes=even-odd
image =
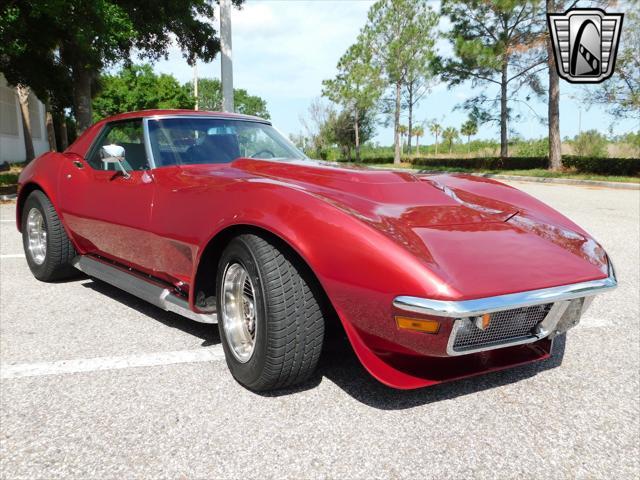
[(227, 365), (245, 387), (266, 391), (307, 380), (324, 337), (319, 287), (285, 247), (240, 235), (217, 275), (218, 327)]

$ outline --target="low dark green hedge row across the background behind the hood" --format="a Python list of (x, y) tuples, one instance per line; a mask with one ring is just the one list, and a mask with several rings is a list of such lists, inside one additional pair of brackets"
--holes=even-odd
[[(369, 157), (361, 163), (388, 164), (393, 163), (392, 156)], [(475, 157), (475, 158), (430, 158), (419, 157), (411, 163), (420, 168), (466, 168), (472, 170), (530, 170), (533, 168), (549, 168), (547, 157)], [(573, 168), (580, 173), (596, 173), (600, 175), (640, 174), (640, 158), (603, 158), (579, 157), (564, 155), (562, 163), (566, 168)]]

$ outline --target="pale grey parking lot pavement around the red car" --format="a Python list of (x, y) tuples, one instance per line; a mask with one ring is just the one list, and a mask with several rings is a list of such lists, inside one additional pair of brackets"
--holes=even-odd
[(640, 192), (512, 184), (593, 234), (620, 285), (552, 359), (416, 391), (341, 341), (308, 384), (247, 391), (215, 325), (36, 281), (0, 206), (1, 478), (638, 478)]

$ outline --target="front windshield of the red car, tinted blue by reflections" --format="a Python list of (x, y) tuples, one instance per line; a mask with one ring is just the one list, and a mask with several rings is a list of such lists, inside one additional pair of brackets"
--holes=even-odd
[(250, 120), (172, 117), (149, 120), (156, 167), (229, 163), (240, 157), (304, 159), (271, 125)]

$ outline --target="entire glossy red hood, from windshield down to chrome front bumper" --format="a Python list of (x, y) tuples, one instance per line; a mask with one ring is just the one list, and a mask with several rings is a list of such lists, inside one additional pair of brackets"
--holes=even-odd
[(604, 249), (586, 232), (493, 180), (311, 160), (243, 159), (233, 166), (303, 189), (359, 218), (439, 273), (460, 298), (577, 283), (608, 273)]

